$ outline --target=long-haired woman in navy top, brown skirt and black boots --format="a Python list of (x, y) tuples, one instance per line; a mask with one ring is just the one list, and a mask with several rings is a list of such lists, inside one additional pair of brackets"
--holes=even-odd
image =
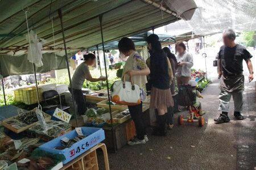
[(147, 37), (150, 53), (151, 100), (150, 108), (158, 111), (158, 127), (153, 135), (166, 136), (167, 108), (174, 105), (170, 91), (170, 77), (166, 53), (162, 50), (158, 35)]

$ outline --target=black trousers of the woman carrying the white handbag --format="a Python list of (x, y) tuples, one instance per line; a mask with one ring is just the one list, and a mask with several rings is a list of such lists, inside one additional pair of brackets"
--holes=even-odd
[(142, 140), (144, 139), (144, 135), (146, 135), (146, 126), (144, 124), (142, 113), (142, 103), (138, 105), (129, 105), (128, 109), (135, 124), (137, 138)]

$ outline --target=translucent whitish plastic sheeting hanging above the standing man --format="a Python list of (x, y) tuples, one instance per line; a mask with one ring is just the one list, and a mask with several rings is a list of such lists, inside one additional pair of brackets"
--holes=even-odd
[(235, 31), (256, 29), (254, 0), (197, 0), (195, 2), (198, 8), (187, 23), (196, 34), (207, 35), (223, 32), (228, 28), (233, 28)]

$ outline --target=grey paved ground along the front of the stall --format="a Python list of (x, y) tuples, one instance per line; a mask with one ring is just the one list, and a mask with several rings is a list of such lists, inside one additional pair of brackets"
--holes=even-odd
[[(246, 78), (247, 79), (247, 78)], [(229, 123), (214, 124), (218, 117), (218, 80), (206, 88), (201, 100), (205, 125), (177, 125), (168, 130), (167, 137), (154, 137), (148, 128), (146, 145), (125, 146), (109, 153), (110, 169), (256, 169), (256, 91), (255, 82), (244, 92), (245, 120), (233, 118), (230, 103)], [(101, 154), (98, 156), (101, 162)]]

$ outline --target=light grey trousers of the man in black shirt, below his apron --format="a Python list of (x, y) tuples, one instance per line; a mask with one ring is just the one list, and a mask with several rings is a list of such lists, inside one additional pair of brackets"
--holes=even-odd
[(220, 107), (218, 108), (221, 112), (229, 112), (229, 101), (233, 96), (234, 100), (234, 111), (241, 112), (243, 108), (243, 92), (227, 92), (221, 91), (218, 99), (220, 99)]

